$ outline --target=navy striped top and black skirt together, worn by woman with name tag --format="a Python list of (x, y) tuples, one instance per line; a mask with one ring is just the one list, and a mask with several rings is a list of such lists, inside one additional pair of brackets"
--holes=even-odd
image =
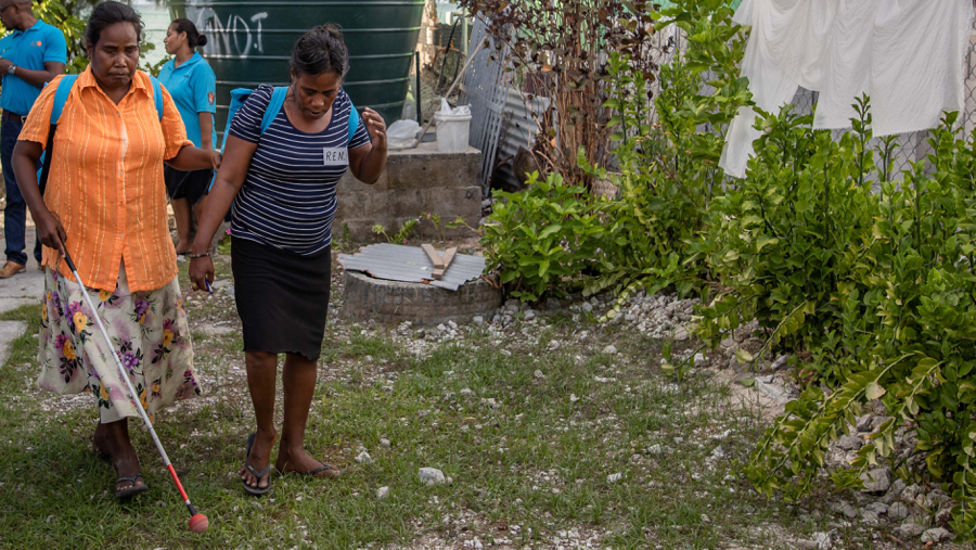
[(329, 311), (336, 183), (348, 169), (348, 151), (370, 137), (360, 121), (349, 141), (352, 103), (342, 90), (325, 131), (299, 131), (282, 107), (261, 135), (271, 92), (270, 86), (255, 90), (231, 123), (231, 136), (257, 143), (234, 199), (234, 300), (244, 351), (317, 360)]

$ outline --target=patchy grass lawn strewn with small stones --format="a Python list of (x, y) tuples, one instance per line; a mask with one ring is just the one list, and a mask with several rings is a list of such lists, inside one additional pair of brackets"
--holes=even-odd
[[(223, 258), (218, 278), (228, 272)], [(205, 395), (156, 429), (209, 530), (187, 530), (134, 421), (152, 490), (115, 500), (114, 472), (90, 449), (91, 396), (35, 386), (30, 306), (5, 315), (29, 329), (0, 368), (0, 547), (793, 548), (827, 522), (739, 476), (763, 426), (728, 387), (703, 375), (677, 384), (657, 368), (660, 342), (558, 312), (503, 333), (462, 327), (450, 342), (333, 316), (307, 447), (350, 471), (272, 475), (269, 495), (246, 496), (235, 472), (254, 421), (233, 299), (220, 290), (187, 307)], [(606, 355), (608, 344), (620, 351)], [(419, 483), (424, 466), (448, 483)]]

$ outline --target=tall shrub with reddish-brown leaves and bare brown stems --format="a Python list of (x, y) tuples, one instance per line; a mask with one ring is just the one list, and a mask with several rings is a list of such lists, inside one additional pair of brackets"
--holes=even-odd
[[(532, 146), (544, 172), (554, 171), (589, 188), (590, 164), (605, 166), (613, 128), (605, 124), (605, 63), (611, 52), (629, 55), (637, 69), (657, 72), (666, 42), (658, 33), (660, 14), (648, 0), (459, 0), (468, 13), (480, 13), (495, 47), (506, 49), (506, 73), (522, 89), (549, 98), (551, 107), (532, 114), (539, 132)], [(645, 97), (648, 102), (651, 97)], [(557, 116), (556, 116), (557, 113)], [(521, 175), (519, 175), (521, 176)]]

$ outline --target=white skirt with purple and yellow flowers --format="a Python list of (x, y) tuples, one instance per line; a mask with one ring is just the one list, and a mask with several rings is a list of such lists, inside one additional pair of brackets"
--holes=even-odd
[(113, 349), (91, 317), (81, 286), (57, 271), (44, 270), (38, 385), (57, 394), (91, 392), (99, 402), (102, 423), (139, 411), (121, 380), (117, 353), (150, 418), (177, 399), (200, 395), (193, 372), (193, 347), (179, 281), (147, 292), (129, 292), (125, 268), (115, 292), (89, 289)]

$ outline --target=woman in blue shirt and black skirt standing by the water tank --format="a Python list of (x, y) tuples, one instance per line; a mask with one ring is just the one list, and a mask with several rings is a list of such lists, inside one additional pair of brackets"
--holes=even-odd
[[(0, 0), (2, 1), (2, 0)], [(207, 44), (207, 37), (196, 30), (190, 20), (175, 20), (166, 31), (166, 53), (175, 55), (159, 71), (159, 81), (169, 90), (180, 111), (187, 138), (200, 149), (213, 151), (217, 142), (214, 113), (217, 112), (217, 76), (210, 65), (200, 56), (196, 48)], [(190, 252), (190, 209), (200, 220), (202, 200), (210, 187), (213, 170), (180, 171), (164, 167), (166, 192), (172, 200), (176, 217), (177, 254)]]

